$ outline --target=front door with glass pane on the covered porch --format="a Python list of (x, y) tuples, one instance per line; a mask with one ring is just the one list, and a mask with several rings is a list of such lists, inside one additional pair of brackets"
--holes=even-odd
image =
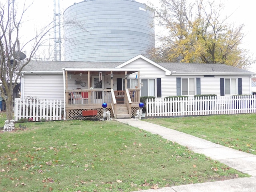
[(94, 102), (95, 103), (103, 103), (104, 100), (104, 94), (102, 94), (102, 89), (104, 89), (104, 76), (102, 77), (102, 80), (100, 81), (99, 76), (93, 76), (92, 77), (92, 84), (94, 85)]

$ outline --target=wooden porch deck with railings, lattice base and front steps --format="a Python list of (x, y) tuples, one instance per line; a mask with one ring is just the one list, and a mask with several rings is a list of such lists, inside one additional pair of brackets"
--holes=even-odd
[[(108, 104), (106, 111), (110, 111), (113, 118), (131, 118), (136, 115), (140, 103), (140, 89), (126, 89), (114, 91), (113, 89), (80, 89), (66, 90), (66, 119), (78, 119), (83, 110), (97, 110), (96, 118), (103, 117), (102, 103)], [(119, 106), (123, 105), (122, 108)], [(124, 107), (127, 114), (120, 112)], [(122, 114), (122, 115), (120, 115)]]

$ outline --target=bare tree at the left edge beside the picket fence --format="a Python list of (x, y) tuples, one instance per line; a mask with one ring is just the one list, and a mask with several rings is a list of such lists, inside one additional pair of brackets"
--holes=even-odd
[[(38, 48), (47, 42), (47, 35), (54, 28), (54, 21), (44, 26), (37, 34), (22, 43), (20, 47), (20, 29), (25, 13), (31, 5), (19, 9), (17, 7), (18, 0), (0, 1), (0, 95), (6, 102), (7, 119), (13, 118), (13, 90), (18, 84), (22, 69), (30, 62), (31, 58), (36, 54)], [(80, 26), (79, 22), (69, 21), (67, 25)], [(28, 29), (29, 30), (29, 29)], [(24, 59), (23, 50), (26, 51), (26, 59)]]

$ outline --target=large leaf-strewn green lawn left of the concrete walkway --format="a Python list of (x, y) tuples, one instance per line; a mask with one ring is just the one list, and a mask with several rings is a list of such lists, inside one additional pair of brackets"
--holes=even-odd
[(130, 192), (249, 176), (116, 121), (22, 125), (0, 132), (0, 192)]

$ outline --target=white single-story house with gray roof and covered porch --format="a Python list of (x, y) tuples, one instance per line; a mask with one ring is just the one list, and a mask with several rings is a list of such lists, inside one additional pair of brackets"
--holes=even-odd
[(30, 61), (20, 79), (21, 98), (64, 101), (67, 119), (102, 103), (116, 118), (136, 114), (140, 96), (251, 94), (254, 72), (224, 64), (156, 63), (138, 55), (124, 63)]

